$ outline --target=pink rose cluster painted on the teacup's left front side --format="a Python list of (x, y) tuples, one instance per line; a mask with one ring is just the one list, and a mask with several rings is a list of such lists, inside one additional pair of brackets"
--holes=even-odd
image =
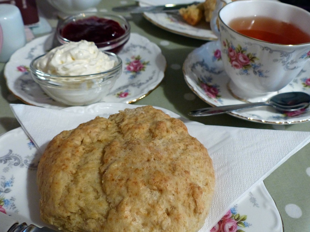
[(235, 47), (231, 42), (228, 42), (228, 40), (223, 41), (223, 45), (226, 48), (228, 61), (233, 68), (240, 70), (240, 75), (246, 75), (249, 71), (253, 71), (253, 73), (259, 77), (268, 77), (264, 74), (267, 71), (262, 70), (262, 65), (257, 63), (259, 58), (257, 58), (255, 54), (247, 52), (247, 49), (242, 48), (239, 44)]

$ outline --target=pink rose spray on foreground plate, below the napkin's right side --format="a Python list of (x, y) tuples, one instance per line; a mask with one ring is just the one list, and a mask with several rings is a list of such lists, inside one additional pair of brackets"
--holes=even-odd
[(251, 224), (246, 222), (246, 215), (237, 213), (233, 207), (221, 218), (221, 220), (210, 230), (210, 232), (245, 232), (240, 228), (246, 228)]

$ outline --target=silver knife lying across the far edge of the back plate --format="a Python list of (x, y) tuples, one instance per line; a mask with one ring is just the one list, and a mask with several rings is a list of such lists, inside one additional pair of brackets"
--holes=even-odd
[(182, 7), (188, 7), (190, 5), (197, 5), (200, 2), (192, 2), (189, 4), (166, 4), (162, 6), (117, 6), (112, 8), (113, 11), (117, 12), (129, 12), (132, 14), (136, 13), (163, 13), (163, 12), (176, 12)]

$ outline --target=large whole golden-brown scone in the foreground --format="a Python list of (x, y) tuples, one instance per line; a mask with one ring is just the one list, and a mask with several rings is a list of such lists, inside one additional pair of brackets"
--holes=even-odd
[(37, 177), (42, 220), (86, 232), (198, 231), (215, 185), (206, 148), (152, 106), (61, 132)]

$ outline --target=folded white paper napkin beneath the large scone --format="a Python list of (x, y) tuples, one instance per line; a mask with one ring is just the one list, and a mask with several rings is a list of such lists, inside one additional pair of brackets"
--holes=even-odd
[[(73, 129), (96, 114), (23, 104), (11, 104), (11, 109), (40, 151), (61, 131)], [(215, 169), (215, 195), (201, 232), (210, 231), (243, 195), (310, 141), (310, 132), (185, 124), (206, 146)]]

